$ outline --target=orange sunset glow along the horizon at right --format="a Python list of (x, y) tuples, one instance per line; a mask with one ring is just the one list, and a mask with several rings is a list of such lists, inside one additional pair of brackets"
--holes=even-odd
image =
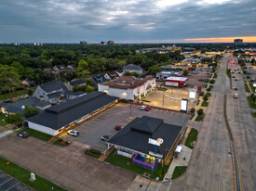
[(190, 38), (188, 43), (234, 43), (235, 39), (243, 39), (244, 43), (256, 43), (256, 36), (219, 37), (219, 38)]

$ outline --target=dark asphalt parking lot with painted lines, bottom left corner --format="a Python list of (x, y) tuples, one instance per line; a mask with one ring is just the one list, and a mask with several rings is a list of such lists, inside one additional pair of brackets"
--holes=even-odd
[(2, 191), (33, 191), (30, 187), (23, 185), (16, 179), (0, 171), (0, 190)]

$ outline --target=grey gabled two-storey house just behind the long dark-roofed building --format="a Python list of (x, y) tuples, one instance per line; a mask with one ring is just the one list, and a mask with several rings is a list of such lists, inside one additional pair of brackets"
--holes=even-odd
[(53, 81), (43, 83), (36, 87), (34, 96), (38, 99), (48, 101), (50, 103), (60, 103), (66, 100), (74, 99), (78, 96), (83, 96), (84, 92), (71, 92), (61, 81)]

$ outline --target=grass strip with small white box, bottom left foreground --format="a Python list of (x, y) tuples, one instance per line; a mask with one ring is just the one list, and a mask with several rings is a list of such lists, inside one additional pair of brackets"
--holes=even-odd
[(39, 190), (39, 191), (46, 191), (46, 190), (64, 191), (64, 190), (66, 190), (66, 189), (62, 188), (61, 186), (55, 185), (55, 184), (47, 181), (47, 179), (42, 178), (41, 176), (36, 175), (36, 174), (35, 174), (36, 180), (34, 182), (31, 182), (31, 181), (29, 181), (31, 172), (21, 168), (20, 166), (14, 164), (12, 162), (9, 162), (9, 164), (7, 165), (7, 161), (8, 161), (7, 159), (0, 158), (1, 171), (6, 172), (10, 176), (13, 176), (20, 182), (24, 183), (25, 185), (29, 185), (29, 186), (33, 187), (35, 190)]

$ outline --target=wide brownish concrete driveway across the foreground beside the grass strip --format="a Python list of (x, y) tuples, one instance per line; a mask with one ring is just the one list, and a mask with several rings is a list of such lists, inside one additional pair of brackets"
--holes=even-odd
[(86, 156), (83, 152), (16, 134), (0, 138), (0, 156), (68, 190), (127, 190), (136, 174)]

